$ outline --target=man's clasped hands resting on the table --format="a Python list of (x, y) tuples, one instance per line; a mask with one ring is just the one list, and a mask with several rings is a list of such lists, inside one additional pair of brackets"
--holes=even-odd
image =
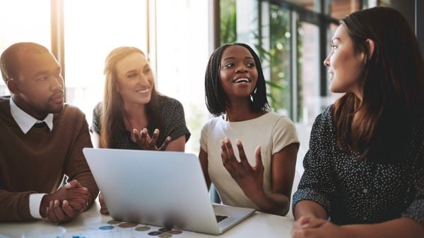
[(43, 196), (40, 214), (52, 223), (64, 223), (87, 209), (88, 189), (72, 180), (53, 194)]

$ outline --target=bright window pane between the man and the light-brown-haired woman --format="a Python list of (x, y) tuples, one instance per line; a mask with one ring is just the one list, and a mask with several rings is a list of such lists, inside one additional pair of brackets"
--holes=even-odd
[(64, 1), (66, 102), (78, 106), (88, 124), (102, 101), (105, 58), (118, 46), (136, 46), (146, 55), (146, 0)]

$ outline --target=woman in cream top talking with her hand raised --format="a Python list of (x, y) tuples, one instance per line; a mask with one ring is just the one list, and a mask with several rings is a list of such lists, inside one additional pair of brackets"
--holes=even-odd
[(213, 182), (225, 204), (285, 215), (299, 141), (293, 122), (269, 111), (259, 57), (247, 44), (220, 46), (209, 59), (205, 89), (216, 115), (201, 130), (208, 187)]

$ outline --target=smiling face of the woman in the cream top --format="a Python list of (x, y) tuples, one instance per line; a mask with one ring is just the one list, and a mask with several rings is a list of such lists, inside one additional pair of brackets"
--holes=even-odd
[(257, 65), (243, 46), (228, 46), (220, 61), (220, 83), (228, 99), (248, 98), (258, 80)]

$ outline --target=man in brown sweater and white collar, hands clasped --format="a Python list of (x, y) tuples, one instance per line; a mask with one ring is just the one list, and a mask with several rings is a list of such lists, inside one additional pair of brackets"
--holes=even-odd
[[(44, 46), (13, 44), (0, 68), (11, 92), (0, 97), (0, 221), (69, 221), (98, 195), (82, 152), (92, 146), (86, 117), (64, 104), (61, 67)], [(72, 181), (60, 187), (64, 175)]]

